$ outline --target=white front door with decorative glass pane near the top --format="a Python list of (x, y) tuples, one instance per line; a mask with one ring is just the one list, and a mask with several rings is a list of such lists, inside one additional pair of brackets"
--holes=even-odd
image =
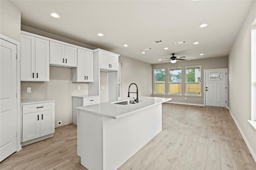
[(205, 71), (205, 105), (226, 107), (226, 70)]

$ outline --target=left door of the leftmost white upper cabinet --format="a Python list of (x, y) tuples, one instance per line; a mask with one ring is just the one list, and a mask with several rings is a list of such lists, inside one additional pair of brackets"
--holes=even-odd
[(35, 80), (35, 37), (20, 35), (20, 80)]

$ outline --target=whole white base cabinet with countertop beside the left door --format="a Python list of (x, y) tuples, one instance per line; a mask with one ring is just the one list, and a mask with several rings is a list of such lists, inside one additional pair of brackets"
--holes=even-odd
[(54, 100), (22, 100), (21, 111), (21, 141), (23, 146), (53, 136), (55, 132)]

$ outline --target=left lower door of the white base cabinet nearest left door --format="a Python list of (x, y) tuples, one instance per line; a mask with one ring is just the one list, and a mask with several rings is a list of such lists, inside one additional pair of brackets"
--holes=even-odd
[(22, 142), (40, 137), (40, 112), (22, 114)]

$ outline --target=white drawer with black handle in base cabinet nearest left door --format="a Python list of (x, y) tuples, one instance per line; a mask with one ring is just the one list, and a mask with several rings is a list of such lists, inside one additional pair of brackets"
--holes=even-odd
[(22, 106), (22, 114), (55, 109), (55, 102), (37, 103)]

